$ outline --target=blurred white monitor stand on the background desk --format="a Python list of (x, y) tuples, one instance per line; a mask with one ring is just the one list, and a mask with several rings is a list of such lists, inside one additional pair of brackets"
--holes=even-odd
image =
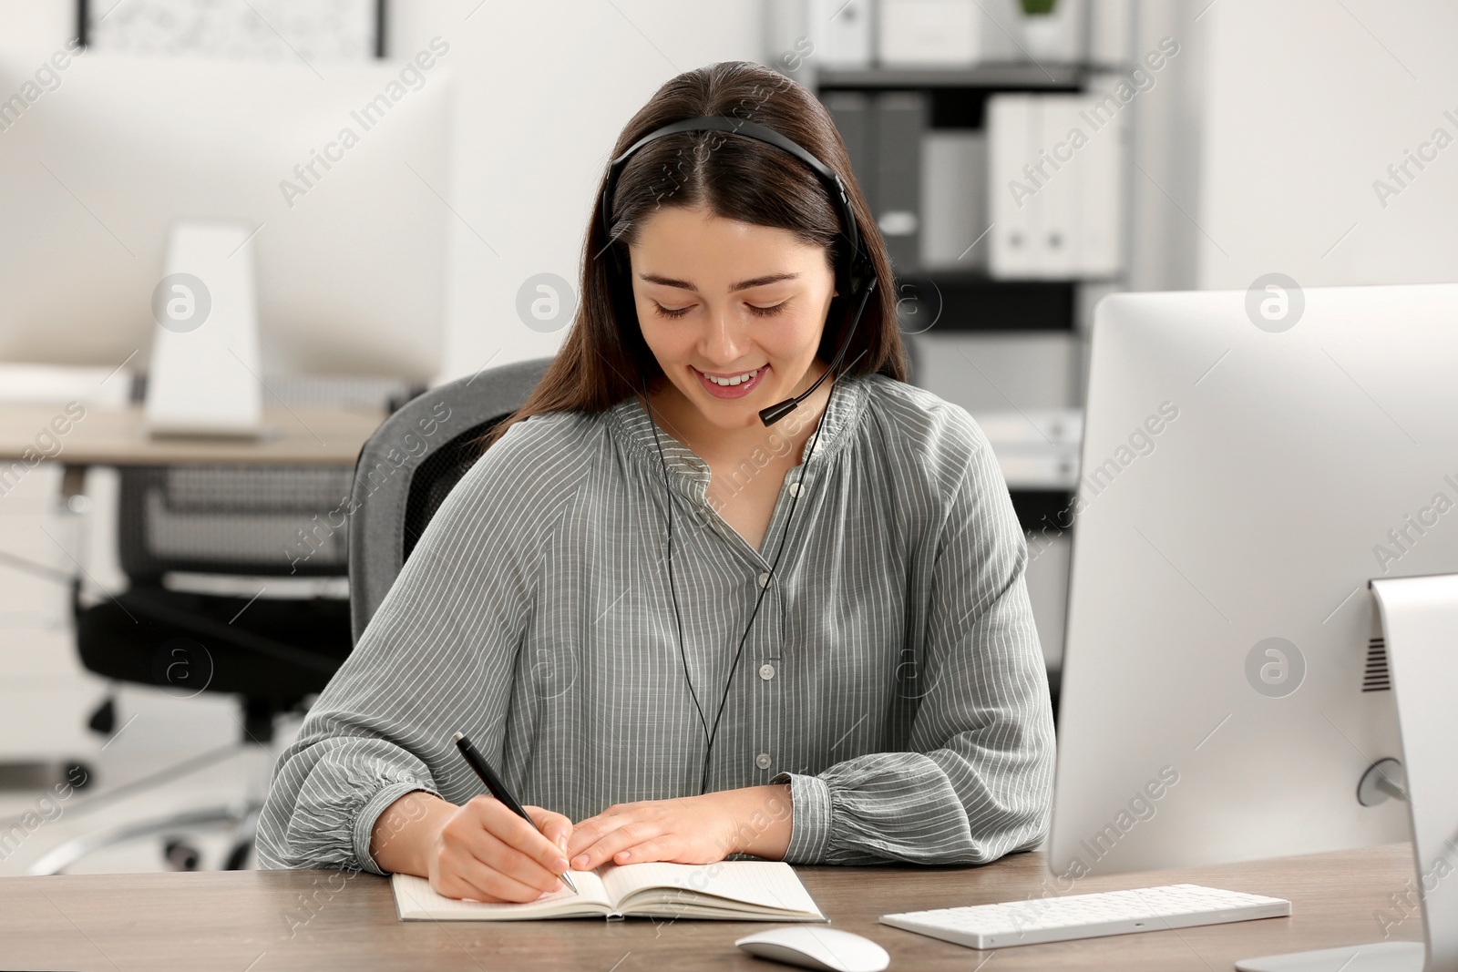
[(262, 433), (252, 233), (222, 220), (172, 224), (166, 274), (152, 297), (149, 434)]

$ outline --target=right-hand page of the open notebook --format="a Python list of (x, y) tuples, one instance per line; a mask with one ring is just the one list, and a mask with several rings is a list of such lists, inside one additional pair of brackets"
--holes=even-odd
[[(621, 864), (601, 869), (602, 886), (615, 902), (628, 895), (652, 887), (669, 889), (666, 896), (674, 901), (674, 889), (684, 890), (684, 899), (691, 893), (713, 895), (730, 901), (758, 905), (770, 909), (805, 911), (821, 915), (815, 899), (784, 861), (719, 861), (716, 864)], [(621, 904), (620, 904), (621, 909)], [(824, 915), (821, 915), (824, 917)]]

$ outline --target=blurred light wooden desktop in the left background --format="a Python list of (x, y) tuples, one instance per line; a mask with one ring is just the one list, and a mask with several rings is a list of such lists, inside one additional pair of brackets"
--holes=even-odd
[[(262, 439), (153, 439), (143, 430), (141, 405), (87, 405), (69, 431), (57, 434), (51, 421), (66, 418), (64, 405), (0, 407), (0, 462), (22, 459), (28, 449), (54, 452), (36, 436), (50, 434), (60, 446), (48, 460), (67, 466), (174, 465), (309, 465), (353, 468), (364, 440), (385, 421), (383, 409), (324, 405), (265, 408)], [(66, 424), (66, 423), (63, 423)]]

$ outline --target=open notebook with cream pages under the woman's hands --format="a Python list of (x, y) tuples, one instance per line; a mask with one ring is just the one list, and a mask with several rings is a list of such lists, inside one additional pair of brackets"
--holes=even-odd
[(561, 889), (523, 905), (445, 898), (414, 874), (392, 874), (401, 921), (521, 921), (528, 918), (723, 918), (827, 921), (783, 861), (604, 864), (572, 871), (580, 895)]

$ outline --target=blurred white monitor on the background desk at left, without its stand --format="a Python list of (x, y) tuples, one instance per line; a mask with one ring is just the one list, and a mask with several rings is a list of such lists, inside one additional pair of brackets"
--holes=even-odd
[(0, 105), (0, 357), (146, 370), (171, 227), (206, 219), (257, 230), (264, 372), (440, 370), (439, 45), (313, 66), (86, 52), (44, 89), (34, 71), (0, 63), (0, 92), (35, 95)]

